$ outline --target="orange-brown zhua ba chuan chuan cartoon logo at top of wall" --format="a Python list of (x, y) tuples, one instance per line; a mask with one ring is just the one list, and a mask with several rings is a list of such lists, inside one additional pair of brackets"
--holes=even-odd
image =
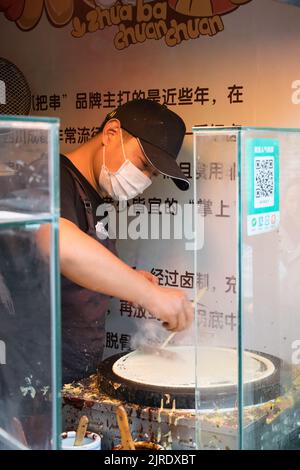
[(251, 1), (0, 0), (0, 11), (23, 31), (34, 29), (44, 11), (54, 27), (61, 28), (70, 23), (75, 38), (117, 27), (114, 46), (123, 50), (150, 39), (164, 39), (167, 46), (174, 47), (182, 41), (215, 36), (224, 30), (223, 15)]

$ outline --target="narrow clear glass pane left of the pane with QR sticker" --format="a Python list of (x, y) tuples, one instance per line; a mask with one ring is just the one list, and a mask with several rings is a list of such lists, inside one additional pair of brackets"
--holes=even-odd
[(200, 449), (238, 447), (238, 130), (196, 129), (196, 415)]

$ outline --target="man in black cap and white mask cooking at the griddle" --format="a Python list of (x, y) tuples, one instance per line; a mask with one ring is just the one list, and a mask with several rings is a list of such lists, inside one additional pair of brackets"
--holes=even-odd
[[(101, 361), (109, 296), (140, 305), (169, 331), (192, 322), (192, 304), (183, 291), (161, 287), (150, 273), (127, 266), (116, 256), (113, 241), (100, 240), (95, 229), (104, 198), (132, 199), (158, 174), (188, 189), (175, 161), (184, 135), (184, 122), (166, 106), (134, 100), (111, 112), (96, 137), (61, 156), (64, 383), (95, 372)], [(44, 250), (48, 237), (42, 229)]]

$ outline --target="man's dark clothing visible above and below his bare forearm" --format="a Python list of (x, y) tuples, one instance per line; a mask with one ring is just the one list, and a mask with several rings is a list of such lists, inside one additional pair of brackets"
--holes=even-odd
[[(103, 216), (96, 216), (103, 199), (73, 163), (64, 155), (60, 160), (61, 217), (70, 220), (82, 231), (88, 232), (99, 243), (115, 253), (114, 241), (100, 241), (94, 230)], [(81, 183), (80, 190), (74, 175)], [(82, 191), (83, 189), (83, 191)], [(79, 194), (79, 191), (84, 194)], [(84, 200), (92, 206), (92, 226), (88, 226)], [(78, 247), (80, 249), (80, 247)], [(63, 383), (81, 379), (94, 373), (102, 359), (105, 342), (105, 315), (109, 297), (93, 292), (61, 276), (62, 305), (62, 372)]]

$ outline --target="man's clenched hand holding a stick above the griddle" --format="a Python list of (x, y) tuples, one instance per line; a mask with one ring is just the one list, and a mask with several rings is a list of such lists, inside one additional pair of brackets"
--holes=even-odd
[(163, 322), (169, 331), (182, 331), (192, 324), (194, 307), (184, 291), (152, 285), (142, 306)]

